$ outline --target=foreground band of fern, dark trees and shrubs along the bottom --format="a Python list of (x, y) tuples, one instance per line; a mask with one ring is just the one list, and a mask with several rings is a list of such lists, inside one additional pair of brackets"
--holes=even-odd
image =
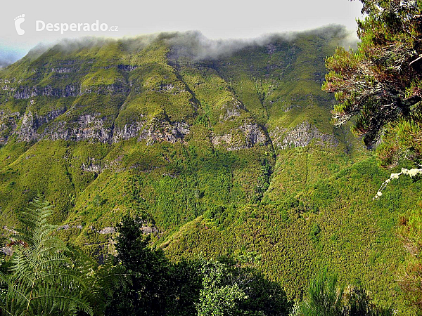
[(171, 263), (149, 247), (141, 218), (124, 216), (115, 249), (98, 265), (73, 246), (52, 237), (49, 202), (34, 199), (20, 213), (23, 228), (12, 258), (1, 265), (1, 312), (5, 315), (395, 315), (369, 300), (362, 284), (336, 287), (321, 270), (305, 301), (295, 304), (256, 266), (256, 253), (217, 260), (199, 257)]

